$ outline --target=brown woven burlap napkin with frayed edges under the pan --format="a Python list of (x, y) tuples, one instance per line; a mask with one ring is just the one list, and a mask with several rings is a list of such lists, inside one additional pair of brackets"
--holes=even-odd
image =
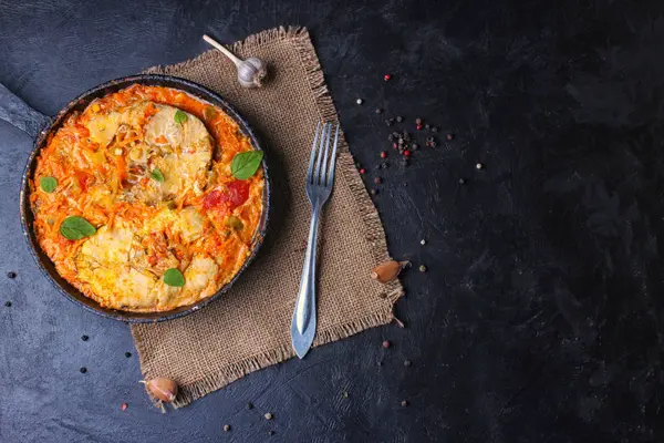
[[(290, 323), (311, 216), (304, 176), (317, 122), (338, 120), (305, 29), (263, 31), (232, 51), (266, 60), (269, 84), (242, 89), (235, 65), (216, 50), (149, 70), (198, 82), (227, 99), (262, 138), (273, 186), (266, 243), (229, 292), (185, 318), (132, 327), (145, 379), (166, 377), (180, 385), (176, 406), (294, 357)], [(314, 346), (392, 321), (403, 295), (397, 281), (370, 279), (371, 269), (388, 259), (385, 234), (343, 140), (340, 150), (321, 222)]]

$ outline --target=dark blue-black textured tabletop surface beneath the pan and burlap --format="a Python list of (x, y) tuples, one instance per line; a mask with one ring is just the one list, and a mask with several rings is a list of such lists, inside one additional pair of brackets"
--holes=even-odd
[(392, 254), (428, 267), (404, 276), (406, 329), (162, 414), (124, 357), (128, 328), (38, 272), (18, 209), (31, 141), (0, 124), (0, 441), (662, 441), (664, 3), (583, 3), (0, 1), (0, 82), (43, 113), (200, 53), (204, 32), (292, 23), (312, 32), (370, 186), (386, 116), (456, 134), (378, 186)]

